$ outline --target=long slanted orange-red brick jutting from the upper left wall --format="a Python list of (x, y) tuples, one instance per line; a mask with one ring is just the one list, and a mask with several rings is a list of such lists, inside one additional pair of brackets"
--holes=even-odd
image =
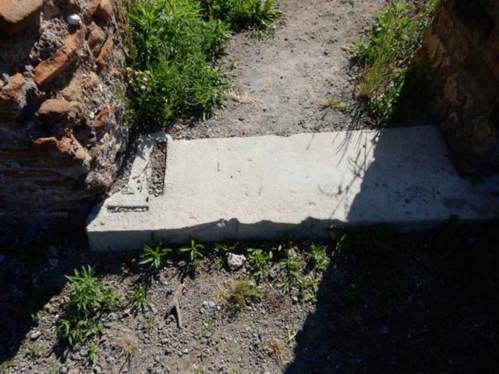
[(36, 85), (51, 82), (62, 71), (69, 67), (79, 56), (80, 49), (83, 46), (85, 35), (85, 26), (64, 38), (64, 43), (52, 56), (41, 61), (33, 69), (33, 80)]

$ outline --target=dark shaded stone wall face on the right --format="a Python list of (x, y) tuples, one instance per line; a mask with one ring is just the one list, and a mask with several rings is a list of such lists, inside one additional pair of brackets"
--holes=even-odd
[[(422, 56), (423, 55), (423, 56)], [(499, 171), (499, 0), (441, 0), (419, 57), (460, 171)]]

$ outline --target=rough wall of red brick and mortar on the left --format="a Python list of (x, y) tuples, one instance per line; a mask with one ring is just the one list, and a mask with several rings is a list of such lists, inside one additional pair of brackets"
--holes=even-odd
[(117, 11), (0, 1), (0, 216), (65, 214), (112, 183), (128, 137)]

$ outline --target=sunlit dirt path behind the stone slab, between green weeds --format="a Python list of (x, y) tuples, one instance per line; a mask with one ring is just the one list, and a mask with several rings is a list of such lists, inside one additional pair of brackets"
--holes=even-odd
[[(283, 21), (273, 36), (258, 39), (247, 32), (230, 41), (223, 62), (235, 76), (226, 107), (204, 121), (184, 121), (169, 131), (174, 138), (193, 139), (350, 129), (350, 113), (322, 104), (326, 99), (355, 98), (358, 74), (350, 66), (348, 48), (370, 29), (373, 15), (388, 3), (280, 0)], [(408, 113), (397, 125), (428, 121), (424, 115)]]

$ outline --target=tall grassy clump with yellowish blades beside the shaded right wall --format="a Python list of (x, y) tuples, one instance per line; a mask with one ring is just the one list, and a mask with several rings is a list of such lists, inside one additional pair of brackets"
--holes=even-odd
[(418, 18), (405, 2), (394, 1), (376, 15), (367, 42), (355, 45), (354, 61), (363, 67), (359, 96), (367, 100), (367, 112), (376, 123), (389, 120), (402, 92), (409, 65), (437, 0), (427, 0)]

